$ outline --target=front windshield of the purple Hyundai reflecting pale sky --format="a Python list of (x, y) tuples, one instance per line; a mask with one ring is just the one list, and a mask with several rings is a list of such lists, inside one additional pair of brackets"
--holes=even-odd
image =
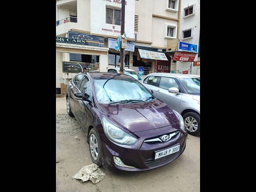
[(130, 78), (94, 78), (96, 97), (101, 104), (119, 101), (144, 101), (152, 97), (150, 92)]

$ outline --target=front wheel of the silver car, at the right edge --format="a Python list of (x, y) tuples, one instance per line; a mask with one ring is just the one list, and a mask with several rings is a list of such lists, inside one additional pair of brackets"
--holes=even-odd
[(200, 115), (196, 112), (188, 112), (183, 115), (184, 125), (188, 134), (200, 135)]

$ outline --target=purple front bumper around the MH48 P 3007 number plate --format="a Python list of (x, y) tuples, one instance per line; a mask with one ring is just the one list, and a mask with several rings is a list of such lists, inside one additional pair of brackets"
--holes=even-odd
[[(179, 126), (179, 124), (177, 126)], [(114, 172), (118, 170), (144, 171), (154, 169), (174, 161), (184, 152), (184, 149), (186, 148), (187, 133), (185, 134), (184, 132), (180, 131), (176, 138), (158, 144), (147, 144), (144, 142), (144, 140), (148, 138), (148, 135), (158, 136), (179, 130), (177, 126), (175, 127), (175, 125), (173, 125), (134, 133), (139, 137), (139, 139), (133, 146), (117, 144), (111, 142), (105, 135), (100, 135), (104, 156), (102, 159), (102, 165), (104, 168)], [(164, 150), (165, 148), (169, 148), (177, 144), (180, 144), (179, 152), (154, 160), (156, 150)], [(116, 165), (113, 159), (114, 156), (119, 157), (124, 164), (135, 168), (126, 168)]]

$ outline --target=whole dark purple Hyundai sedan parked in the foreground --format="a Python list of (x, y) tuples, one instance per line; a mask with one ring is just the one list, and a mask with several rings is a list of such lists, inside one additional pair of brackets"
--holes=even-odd
[(66, 101), (98, 166), (150, 170), (172, 162), (186, 148), (182, 116), (131, 76), (77, 74), (68, 82)]

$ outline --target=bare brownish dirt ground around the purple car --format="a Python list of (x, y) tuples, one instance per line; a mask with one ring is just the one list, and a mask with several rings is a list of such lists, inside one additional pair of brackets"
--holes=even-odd
[(56, 98), (56, 192), (200, 191), (200, 137), (188, 135), (184, 153), (160, 168), (115, 174), (100, 167), (106, 176), (97, 184), (72, 178), (92, 164), (86, 141), (82, 128), (66, 114), (65, 98)]

